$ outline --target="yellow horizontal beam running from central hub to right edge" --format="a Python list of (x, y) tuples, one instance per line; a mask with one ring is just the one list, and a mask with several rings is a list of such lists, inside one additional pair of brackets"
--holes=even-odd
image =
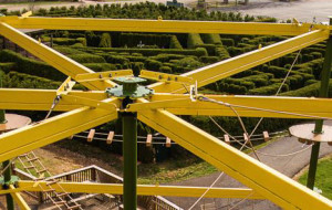
[(243, 117), (332, 118), (332, 99), (328, 98), (240, 95), (204, 95), (204, 97), (226, 105), (199, 99), (191, 102), (188, 95), (156, 94), (148, 103), (129, 104), (126, 111), (164, 108), (176, 115), (237, 116), (229, 107), (232, 106)]

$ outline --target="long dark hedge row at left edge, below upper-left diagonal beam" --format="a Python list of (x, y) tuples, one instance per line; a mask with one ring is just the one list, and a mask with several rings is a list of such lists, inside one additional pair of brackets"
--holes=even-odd
[(19, 73), (25, 73), (25, 74), (45, 77), (54, 81), (63, 81), (66, 78), (64, 74), (62, 74), (54, 67), (48, 65), (46, 63), (35, 61), (33, 59), (24, 57), (21, 54), (10, 50), (0, 51), (0, 62), (15, 63), (13, 70)]

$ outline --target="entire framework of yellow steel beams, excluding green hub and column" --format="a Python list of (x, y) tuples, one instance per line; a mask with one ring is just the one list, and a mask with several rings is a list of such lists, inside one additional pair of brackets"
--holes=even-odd
[[(139, 31), (178, 33), (226, 33), (226, 34), (279, 34), (293, 35), (237, 57), (195, 70), (180, 75), (181, 81), (195, 81), (198, 86), (208, 85), (220, 78), (249, 70), (288, 53), (329, 39), (331, 27), (319, 24), (231, 23), (206, 21), (164, 20), (112, 20), (1, 17), (0, 34), (24, 48), (50, 65), (60, 70), (92, 92), (71, 91), (62, 95), (56, 111), (69, 111), (50, 119), (17, 129), (0, 136), (0, 161), (20, 154), (61, 140), (68, 136), (117, 118), (117, 112), (137, 112), (138, 119), (170, 137), (174, 141), (216, 166), (251, 189), (211, 189), (207, 197), (266, 198), (284, 209), (331, 209), (332, 202), (309, 190), (274, 169), (238, 151), (214, 136), (180, 119), (177, 115), (234, 116), (228, 106), (200, 101), (194, 102), (178, 82), (158, 82), (151, 85), (155, 94), (151, 98), (138, 98), (127, 107), (121, 107), (121, 99), (108, 98), (105, 88), (115, 85), (100, 80), (98, 74), (61, 53), (21, 33), (17, 28), (49, 30)], [(112, 77), (112, 76), (110, 76)], [(187, 77), (187, 78), (186, 78)], [(174, 94), (177, 93), (177, 94)], [(59, 92), (45, 90), (0, 90), (0, 108), (48, 111)], [(199, 97), (199, 95), (198, 95)], [(331, 118), (331, 99), (257, 96), (208, 96), (218, 102), (232, 104), (241, 116)], [(313, 107), (314, 106), (314, 107)], [(255, 107), (255, 108), (250, 108)], [(126, 108), (126, 109), (125, 109)], [(295, 115), (290, 115), (290, 113)], [(179, 133), (180, 130), (180, 133)], [(22, 140), (24, 139), (24, 140)], [(21, 190), (35, 190), (34, 182), (20, 181), (20, 187), (2, 190), (12, 193), (23, 209), (19, 197)], [(39, 185), (46, 185), (40, 182)], [(121, 185), (61, 183), (70, 192), (122, 193)], [(112, 186), (112, 188), (111, 188)], [(139, 195), (200, 196), (205, 188), (138, 186)], [(58, 189), (61, 191), (61, 189)]]

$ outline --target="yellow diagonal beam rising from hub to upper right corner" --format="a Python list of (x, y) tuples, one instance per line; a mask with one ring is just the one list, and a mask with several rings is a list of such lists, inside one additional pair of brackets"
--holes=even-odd
[[(198, 82), (198, 87), (208, 85), (221, 78), (243, 72), (266, 62), (295, 52), (305, 46), (319, 43), (329, 38), (329, 31), (312, 31), (289, 40), (271, 44), (269, 46), (241, 54), (185, 74)], [(159, 93), (186, 93), (187, 90), (179, 84), (156, 83), (149, 86)]]

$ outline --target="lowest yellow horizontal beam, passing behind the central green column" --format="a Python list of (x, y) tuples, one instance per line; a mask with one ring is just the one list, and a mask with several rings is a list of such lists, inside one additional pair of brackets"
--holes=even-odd
[[(24, 191), (41, 191), (48, 182), (39, 182), (40, 187), (33, 187), (34, 181), (19, 181), (19, 186)], [(53, 187), (53, 186), (52, 186)], [(53, 187), (58, 192), (82, 192), (82, 193), (111, 193), (123, 195), (122, 183), (81, 183), (81, 182), (59, 182)], [(206, 187), (187, 186), (152, 186), (138, 185), (138, 196), (172, 196), (172, 197), (200, 197), (207, 190)], [(6, 191), (6, 190), (3, 190)], [(262, 196), (247, 188), (211, 188), (205, 198), (248, 198), (263, 199)]]

